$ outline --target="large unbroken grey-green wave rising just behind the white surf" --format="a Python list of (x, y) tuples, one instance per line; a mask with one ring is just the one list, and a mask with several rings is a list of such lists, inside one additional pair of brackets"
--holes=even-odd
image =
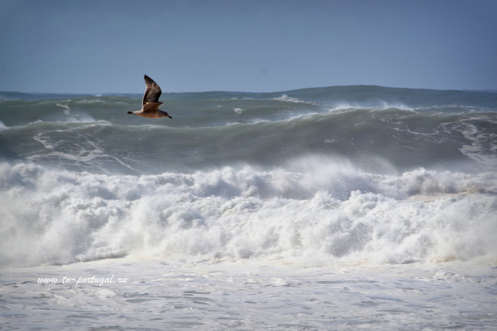
[(497, 167), (497, 113), (351, 109), (207, 128), (145, 123), (149, 124), (37, 121), (4, 126), (0, 156), (68, 170), (130, 175), (194, 172), (239, 163), (282, 167), (306, 155), (347, 158), (357, 168), (376, 173), (418, 167), (479, 172)]

